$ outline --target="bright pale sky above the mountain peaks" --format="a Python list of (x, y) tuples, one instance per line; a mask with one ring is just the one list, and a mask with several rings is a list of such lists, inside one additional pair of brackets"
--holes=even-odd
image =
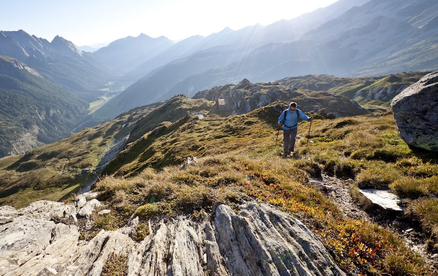
[(0, 30), (20, 29), (78, 46), (144, 33), (181, 40), (238, 30), (328, 6), (337, 0), (0, 0)]

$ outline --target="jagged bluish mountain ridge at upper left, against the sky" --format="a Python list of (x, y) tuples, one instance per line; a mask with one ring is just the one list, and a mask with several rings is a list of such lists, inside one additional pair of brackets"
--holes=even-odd
[(114, 79), (115, 75), (90, 53), (56, 36), (52, 42), (23, 30), (0, 31), (0, 55), (12, 57), (66, 86), (82, 98)]

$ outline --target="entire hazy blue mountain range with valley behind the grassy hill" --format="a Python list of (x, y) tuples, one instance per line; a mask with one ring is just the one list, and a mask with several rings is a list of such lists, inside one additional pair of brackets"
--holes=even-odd
[[(255, 83), (309, 74), (362, 77), (436, 70), (437, 32), (438, 2), (434, 0), (339, 0), (268, 26), (236, 31), (226, 28), (178, 43), (141, 34), (116, 40), (93, 53), (79, 50), (60, 36), (49, 42), (23, 30), (0, 31), (0, 55), (5, 57), (2, 62), (19, 61), (30, 74), (3, 87), (0, 103), (8, 105), (3, 95), (16, 95), (19, 87), (34, 86), (35, 78), (56, 86), (47, 90), (52, 91), (53, 99), (59, 93), (72, 97), (65, 101), (71, 105), (62, 108), (77, 111), (69, 115), (69, 123), (53, 122), (57, 134), (50, 139), (37, 138), (34, 147), (67, 136), (75, 127), (95, 125), (138, 106), (165, 101), (176, 94), (191, 97), (244, 78)], [(5, 68), (12, 67), (9, 64)], [(2, 77), (15, 79), (15, 71), (4, 70)], [(39, 94), (30, 88), (21, 90), (26, 97)], [(14, 96), (10, 100), (19, 104)], [(32, 114), (54, 109), (44, 101), (41, 104)], [(103, 106), (89, 117), (87, 105), (90, 110)], [(12, 120), (8, 124), (18, 126), (21, 119), (8, 120)], [(0, 140), (7, 141), (3, 154), (16, 152), (10, 147), (11, 141), (31, 132), (34, 123), (20, 126), (23, 132), (15, 136), (2, 137)], [(2, 133), (5, 129), (2, 126)]]

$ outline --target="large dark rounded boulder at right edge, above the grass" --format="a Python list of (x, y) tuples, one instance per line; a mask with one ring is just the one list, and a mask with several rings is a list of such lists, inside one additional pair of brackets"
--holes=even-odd
[(414, 147), (438, 151), (438, 72), (430, 73), (391, 102), (400, 136)]

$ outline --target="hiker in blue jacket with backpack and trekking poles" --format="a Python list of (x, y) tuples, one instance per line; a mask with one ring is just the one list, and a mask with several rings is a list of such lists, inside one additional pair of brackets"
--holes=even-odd
[(298, 132), (298, 118), (312, 121), (312, 117), (307, 117), (303, 111), (297, 108), (296, 102), (291, 102), (289, 108), (285, 109), (278, 117), (278, 128), (283, 125), (283, 158), (286, 158), (295, 149), (295, 138)]

